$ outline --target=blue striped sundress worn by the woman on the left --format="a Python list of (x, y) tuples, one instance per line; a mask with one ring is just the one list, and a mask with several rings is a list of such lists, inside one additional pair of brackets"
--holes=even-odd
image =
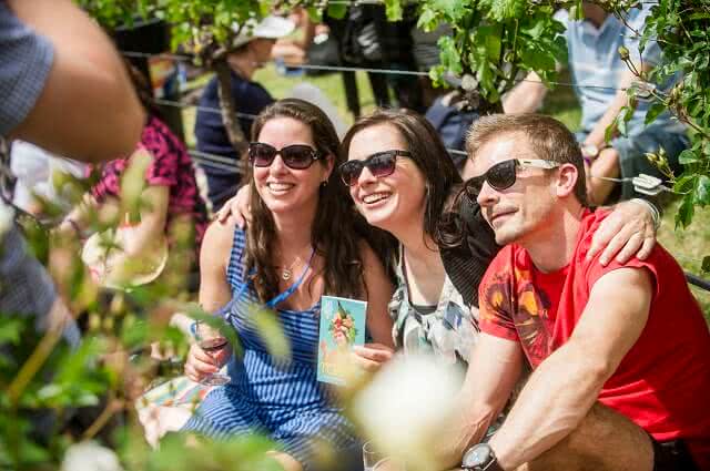
[(232, 358), (232, 381), (207, 395), (184, 430), (215, 438), (262, 432), (307, 470), (324, 443), (335, 450), (352, 450), (357, 443), (333, 393), (316, 380), (321, 304), (304, 311), (277, 309), (291, 344), (291, 361), (271, 357), (248, 318), (245, 301), (258, 299), (251, 285), (243, 289), (245, 245), (245, 233), (236, 228), (226, 276), (233, 296), (242, 291), (231, 301), (231, 324), (244, 356)]

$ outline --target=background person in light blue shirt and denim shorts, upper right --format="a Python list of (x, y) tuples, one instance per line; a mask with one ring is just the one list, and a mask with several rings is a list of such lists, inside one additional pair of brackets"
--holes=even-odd
[[(632, 9), (625, 19), (626, 22), (631, 28), (641, 30), (651, 8), (651, 4), (643, 4), (641, 9)], [(647, 127), (645, 117), (649, 103), (640, 101), (627, 125), (628, 136), (617, 134), (609, 146), (606, 144), (606, 129), (621, 107), (628, 104), (625, 89), (638, 80), (621, 60), (619, 48), (627, 48), (636, 69), (646, 72), (660, 61), (661, 51), (658, 43), (649, 41), (639, 57), (639, 41), (623, 21), (591, 2), (582, 2), (582, 10), (585, 19), (581, 21), (571, 19), (566, 10), (559, 10), (555, 18), (566, 27), (569, 70), (574, 83), (578, 85), (575, 86), (581, 105), (581, 132), (578, 140), (587, 165), (588, 199), (592, 205), (602, 205), (617, 183), (595, 176), (626, 178), (645, 173), (662, 177), (645, 154), (658, 152), (662, 147), (671, 170), (678, 171), (678, 154), (690, 142), (684, 125), (671, 120), (668, 112)], [(536, 111), (546, 90), (539, 78), (531, 73), (504, 100), (506, 113)], [(625, 182), (621, 198), (628, 199), (635, 194), (631, 183)]]

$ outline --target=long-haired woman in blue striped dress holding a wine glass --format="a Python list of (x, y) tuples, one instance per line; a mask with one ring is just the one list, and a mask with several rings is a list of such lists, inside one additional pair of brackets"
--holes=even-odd
[[(323, 294), (367, 300), (367, 330), (392, 346), (387, 301), (393, 285), (369, 245), (358, 239), (355, 212), (333, 168), (337, 134), (316, 106), (283, 100), (255, 120), (250, 144), (252, 222), (242, 231), (214, 223), (201, 252), (200, 303), (227, 315), (244, 347), (229, 365), (232, 381), (215, 388), (185, 426), (213, 437), (251, 431), (272, 438), (287, 470), (314, 468), (323, 444), (356, 447), (351, 423), (316, 381), (320, 299)], [(261, 341), (251, 303), (275, 308), (291, 342), (288, 361)], [(226, 361), (191, 348), (186, 375), (200, 380)]]

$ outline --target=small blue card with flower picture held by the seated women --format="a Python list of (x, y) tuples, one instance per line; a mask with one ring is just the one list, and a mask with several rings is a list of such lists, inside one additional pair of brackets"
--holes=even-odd
[(323, 296), (318, 338), (318, 381), (343, 386), (354, 345), (365, 344), (367, 303)]

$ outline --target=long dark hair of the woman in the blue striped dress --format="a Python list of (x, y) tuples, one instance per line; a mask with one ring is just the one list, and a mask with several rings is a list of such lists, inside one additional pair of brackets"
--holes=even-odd
[[(334, 158), (334, 171), (327, 185), (320, 187), (317, 209), (313, 222), (311, 244), (325, 260), (323, 278), (325, 294), (346, 297), (364, 295), (363, 260), (359, 254), (358, 237), (353, 225), (353, 209), (349, 195), (337, 176), (341, 158), (337, 154), (338, 137), (331, 120), (317, 106), (303, 100), (280, 100), (262, 111), (252, 125), (252, 140), (256, 141), (264, 124), (276, 117), (291, 117), (311, 127), (316, 150)], [(320, 160), (314, 165), (325, 165)], [(274, 219), (256, 192), (252, 168), (248, 168), (252, 223), (247, 228), (246, 258), (247, 273), (262, 301), (278, 293), (278, 276), (273, 264), (276, 239)], [(313, 278), (312, 278), (313, 280)]]

